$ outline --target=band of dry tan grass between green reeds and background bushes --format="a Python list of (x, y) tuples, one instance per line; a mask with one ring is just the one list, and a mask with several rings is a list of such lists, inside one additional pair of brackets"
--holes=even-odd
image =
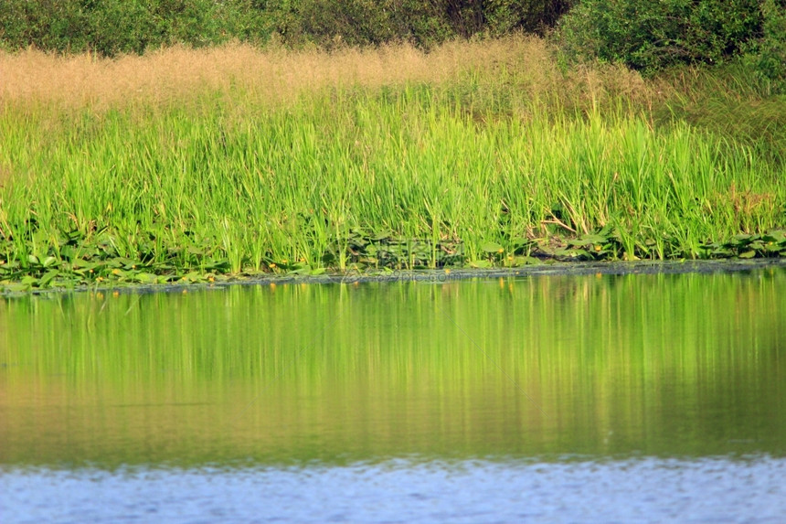
[(275, 104), (325, 87), (440, 84), (468, 71), (489, 82), (503, 75), (532, 95), (578, 90), (571, 94), (594, 99), (610, 90), (643, 90), (638, 75), (613, 68), (573, 71), (566, 83), (543, 40), (514, 36), (451, 42), (429, 53), (407, 45), (326, 52), (239, 44), (166, 48), (120, 59), (35, 50), (0, 53), (0, 102), (101, 110), (133, 103), (167, 105), (207, 91), (240, 91), (256, 102)]

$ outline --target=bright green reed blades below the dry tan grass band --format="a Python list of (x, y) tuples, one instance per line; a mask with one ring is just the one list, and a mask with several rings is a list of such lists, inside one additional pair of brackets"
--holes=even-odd
[[(182, 106), (6, 105), (6, 279), (75, 260), (175, 276), (521, 263), (593, 234), (588, 249), (556, 254), (696, 258), (786, 223), (786, 166), (744, 145), (686, 123), (654, 128), (621, 99), (568, 109), (487, 84), (278, 105), (240, 88)], [(781, 251), (754, 251), (768, 252)]]

